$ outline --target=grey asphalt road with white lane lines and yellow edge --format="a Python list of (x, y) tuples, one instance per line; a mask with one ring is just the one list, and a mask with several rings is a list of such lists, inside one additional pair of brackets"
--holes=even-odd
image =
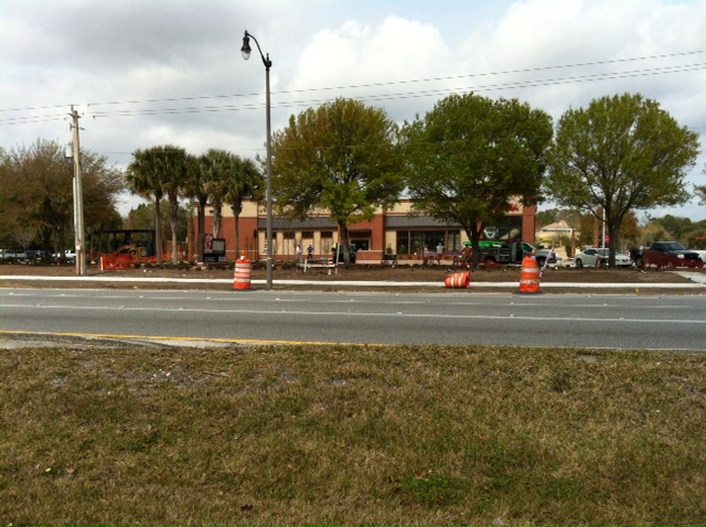
[(159, 343), (484, 344), (706, 351), (692, 295), (1, 289), (0, 332)]

